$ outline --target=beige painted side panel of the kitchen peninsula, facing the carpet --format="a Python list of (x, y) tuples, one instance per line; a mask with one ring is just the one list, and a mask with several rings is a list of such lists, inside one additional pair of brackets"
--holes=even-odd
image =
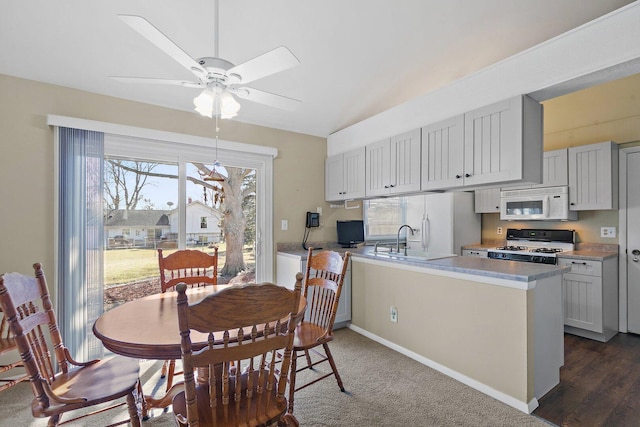
[(532, 291), (352, 260), (353, 325), (520, 402), (533, 398)]

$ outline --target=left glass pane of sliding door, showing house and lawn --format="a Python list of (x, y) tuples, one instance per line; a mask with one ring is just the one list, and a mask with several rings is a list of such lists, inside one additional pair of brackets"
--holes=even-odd
[(178, 165), (105, 157), (105, 310), (132, 284), (159, 289), (157, 249), (177, 248)]

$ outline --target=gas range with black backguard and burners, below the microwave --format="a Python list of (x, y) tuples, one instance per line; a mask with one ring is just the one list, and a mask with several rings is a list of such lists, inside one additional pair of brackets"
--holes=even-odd
[(507, 229), (507, 243), (489, 249), (489, 258), (508, 261), (558, 263), (557, 255), (575, 248), (574, 230)]

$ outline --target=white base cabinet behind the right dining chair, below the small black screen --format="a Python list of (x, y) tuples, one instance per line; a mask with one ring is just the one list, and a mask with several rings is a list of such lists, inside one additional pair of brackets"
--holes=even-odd
[[(276, 255), (276, 283), (293, 289), (296, 284), (296, 274), (304, 274), (307, 269), (306, 255), (304, 259), (301, 255), (294, 255), (285, 252), (278, 252)], [(338, 311), (334, 329), (341, 328), (351, 321), (351, 261), (347, 266), (347, 273), (344, 277), (342, 292), (338, 302)]]

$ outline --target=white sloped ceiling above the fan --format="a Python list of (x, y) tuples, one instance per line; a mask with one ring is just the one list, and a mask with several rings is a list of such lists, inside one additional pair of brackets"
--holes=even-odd
[[(248, 86), (299, 99), (299, 108), (241, 101), (233, 120), (326, 137), (629, 3), (220, 0), (219, 56), (237, 65), (288, 47), (301, 65)], [(193, 77), (116, 15), (145, 17), (198, 58), (213, 56), (213, 4), (0, 0), (0, 74), (193, 111), (198, 89), (109, 78)]]

